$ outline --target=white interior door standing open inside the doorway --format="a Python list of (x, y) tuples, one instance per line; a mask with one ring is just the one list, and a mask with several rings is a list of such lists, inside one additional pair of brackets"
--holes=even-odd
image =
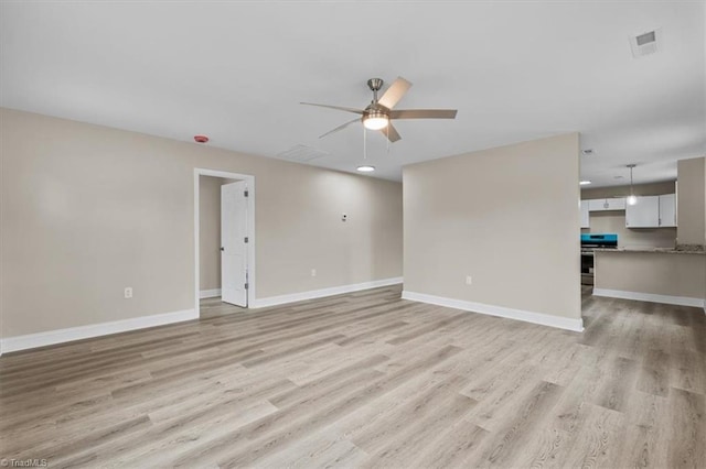
[(247, 306), (247, 186), (244, 181), (221, 186), (222, 301)]

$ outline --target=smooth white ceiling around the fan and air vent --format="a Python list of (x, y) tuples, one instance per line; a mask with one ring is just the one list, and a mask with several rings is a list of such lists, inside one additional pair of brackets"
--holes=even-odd
[[(1, 106), (354, 171), (365, 81), (414, 83), (397, 108), (449, 120), (368, 132), (378, 177), (405, 164), (579, 131), (593, 186), (676, 177), (706, 154), (704, 2), (30, 2), (0, 7)], [(655, 55), (629, 35), (662, 28)]]

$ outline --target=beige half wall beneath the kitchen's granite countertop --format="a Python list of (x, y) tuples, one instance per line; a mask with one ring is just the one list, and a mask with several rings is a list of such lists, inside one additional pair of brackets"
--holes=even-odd
[(703, 298), (706, 255), (596, 253), (596, 288)]

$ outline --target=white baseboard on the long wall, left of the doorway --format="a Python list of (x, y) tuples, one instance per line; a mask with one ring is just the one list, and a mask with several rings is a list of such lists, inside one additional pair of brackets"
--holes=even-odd
[(145, 329), (147, 327), (164, 326), (192, 319), (199, 319), (199, 314), (193, 309), (184, 309), (173, 313), (114, 320), (110, 323), (47, 330), (46, 332), (28, 334), (26, 336), (8, 337), (0, 339), (0, 342), (2, 343), (2, 352), (11, 352), (71, 342), (73, 340), (90, 339), (110, 334), (126, 332), (128, 330)]

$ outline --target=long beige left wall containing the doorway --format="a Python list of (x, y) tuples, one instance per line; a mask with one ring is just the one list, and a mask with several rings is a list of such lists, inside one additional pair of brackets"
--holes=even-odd
[(193, 308), (195, 167), (255, 176), (258, 298), (402, 275), (400, 184), (8, 109), (0, 124), (2, 337)]

